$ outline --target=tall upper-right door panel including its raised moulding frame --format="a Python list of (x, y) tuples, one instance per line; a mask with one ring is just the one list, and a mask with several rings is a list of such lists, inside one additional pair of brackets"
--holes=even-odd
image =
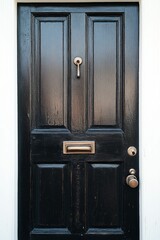
[[(91, 126), (121, 126), (122, 15), (88, 16)], [(93, 81), (93, 82), (92, 82)]]

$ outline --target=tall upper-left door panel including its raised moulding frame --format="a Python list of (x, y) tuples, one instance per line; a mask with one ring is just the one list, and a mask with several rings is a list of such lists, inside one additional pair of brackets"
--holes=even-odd
[(34, 16), (32, 20), (32, 121), (36, 127), (68, 127), (67, 16)]

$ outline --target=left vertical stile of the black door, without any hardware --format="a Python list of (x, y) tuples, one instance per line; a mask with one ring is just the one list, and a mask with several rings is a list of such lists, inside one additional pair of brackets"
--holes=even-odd
[[(18, 237), (29, 239), (30, 228), (30, 125), (31, 125), (31, 14), (18, 9)], [(26, 19), (26, 21), (24, 20)], [(25, 187), (24, 187), (25, 186)]]

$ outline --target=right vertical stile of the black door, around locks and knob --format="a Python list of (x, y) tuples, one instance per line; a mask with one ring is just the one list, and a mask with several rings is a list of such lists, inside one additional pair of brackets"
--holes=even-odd
[[(124, 175), (129, 175), (129, 170), (136, 170), (136, 177), (139, 177), (139, 153), (129, 156), (127, 149), (130, 146), (139, 149), (138, 142), (138, 8), (126, 8), (124, 16), (125, 32), (124, 38), (124, 122), (123, 130), (126, 140), (126, 157)], [(132, 239), (139, 238), (139, 188), (132, 189), (125, 187), (125, 225), (128, 234)], [(137, 223), (136, 225), (134, 223)]]

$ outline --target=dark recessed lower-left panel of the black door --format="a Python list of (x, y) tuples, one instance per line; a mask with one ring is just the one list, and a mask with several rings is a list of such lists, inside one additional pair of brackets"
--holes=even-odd
[(35, 227), (66, 227), (70, 210), (67, 165), (37, 164), (34, 166), (33, 178)]

